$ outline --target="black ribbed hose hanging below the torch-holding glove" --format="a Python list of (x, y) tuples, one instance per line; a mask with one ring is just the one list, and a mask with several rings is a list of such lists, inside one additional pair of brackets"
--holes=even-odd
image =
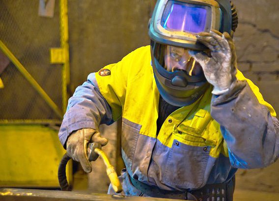
[(62, 157), (59, 167), (58, 167), (58, 181), (59, 185), (62, 191), (71, 191), (71, 186), (69, 185), (67, 181), (67, 176), (66, 176), (66, 165), (68, 161), (71, 159), (70, 156), (67, 155), (67, 153), (64, 154)]

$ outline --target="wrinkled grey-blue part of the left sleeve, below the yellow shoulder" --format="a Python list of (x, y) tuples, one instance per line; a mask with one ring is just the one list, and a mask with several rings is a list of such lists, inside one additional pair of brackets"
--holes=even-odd
[(65, 147), (68, 136), (82, 128), (99, 128), (99, 124), (111, 124), (112, 112), (106, 99), (100, 93), (95, 73), (88, 75), (87, 82), (78, 86), (68, 101), (58, 137)]

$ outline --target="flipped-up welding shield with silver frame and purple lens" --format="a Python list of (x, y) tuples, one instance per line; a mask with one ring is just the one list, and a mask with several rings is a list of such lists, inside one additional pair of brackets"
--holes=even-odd
[(155, 42), (202, 50), (195, 34), (219, 30), (221, 10), (215, 0), (159, 0), (150, 23)]

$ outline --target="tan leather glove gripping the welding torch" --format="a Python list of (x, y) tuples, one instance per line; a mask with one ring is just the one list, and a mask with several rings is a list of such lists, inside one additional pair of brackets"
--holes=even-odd
[(87, 173), (92, 172), (92, 166), (87, 156), (88, 143), (99, 143), (104, 146), (108, 144), (108, 139), (102, 138), (97, 130), (83, 128), (72, 133), (67, 141), (67, 155), (80, 162)]

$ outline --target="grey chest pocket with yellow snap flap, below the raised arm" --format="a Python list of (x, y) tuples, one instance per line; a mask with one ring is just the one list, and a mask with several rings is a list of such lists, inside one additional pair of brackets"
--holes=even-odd
[(164, 183), (195, 189), (206, 182), (209, 152), (217, 144), (212, 132), (205, 132), (212, 120), (208, 111), (199, 109), (193, 119), (173, 126), (174, 141), (162, 177)]

